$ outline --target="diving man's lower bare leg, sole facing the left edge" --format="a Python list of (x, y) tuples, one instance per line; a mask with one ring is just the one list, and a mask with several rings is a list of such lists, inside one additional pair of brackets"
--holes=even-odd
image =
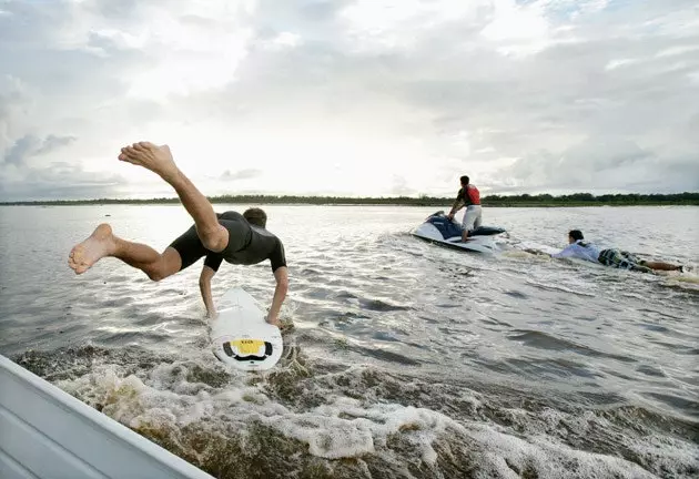
[(176, 249), (169, 247), (160, 254), (148, 245), (114, 236), (112, 227), (107, 223), (99, 225), (90, 237), (72, 248), (68, 265), (75, 274), (82, 274), (98, 261), (109, 256), (141, 269), (153, 281), (166, 278), (182, 266)]

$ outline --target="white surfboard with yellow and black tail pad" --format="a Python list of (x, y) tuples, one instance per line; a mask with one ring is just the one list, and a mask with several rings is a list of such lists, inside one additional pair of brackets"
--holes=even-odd
[(282, 357), (282, 332), (265, 320), (264, 310), (243, 288), (225, 292), (210, 327), (214, 355), (237, 369), (271, 369)]

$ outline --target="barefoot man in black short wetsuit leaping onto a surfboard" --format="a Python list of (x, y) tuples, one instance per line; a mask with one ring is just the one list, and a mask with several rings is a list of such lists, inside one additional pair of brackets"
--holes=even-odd
[(161, 281), (205, 256), (199, 284), (206, 313), (213, 317), (216, 310), (211, 296), (211, 279), (222, 261), (251, 265), (270, 259), (276, 288), (267, 323), (280, 326), (278, 315), (288, 289), (288, 275), (282, 242), (265, 230), (266, 214), (260, 208), (247, 210), (243, 215), (214, 213), (209, 200), (180, 171), (168, 145), (134, 143), (121, 149), (119, 160), (143, 166), (169, 183), (194, 225), (161, 254), (144, 244), (122, 240), (112, 233), (109, 224), (101, 224), (70, 252), (68, 265), (75, 274), (82, 274), (103, 257), (112, 256), (141, 269), (151, 279)]

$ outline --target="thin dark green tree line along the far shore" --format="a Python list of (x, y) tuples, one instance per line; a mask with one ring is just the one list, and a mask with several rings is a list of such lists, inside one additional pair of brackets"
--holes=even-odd
[[(421, 195), (383, 196), (383, 197), (342, 197), (342, 196), (275, 196), (275, 195), (239, 195), (212, 196), (212, 203), (229, 204), (308, 204), (308, 205), (396, 205), (396, 206), (448, 206), (454, 197), (434, 197)], [(699, 206), (699, 193), (678, 194), (606, 194), (595, 196), (590, 193), (575, 193), (561, 196), (540, 195), (489, 195), (482, 198), (484, 206), (652, 206), (652, 205), (695, 205)], [(150, 200), (54, 200), (36, 202), (6, 202), (2, 206), (16, 205), (105, 205), (105, 204), (179, 204), (176, 197)]]

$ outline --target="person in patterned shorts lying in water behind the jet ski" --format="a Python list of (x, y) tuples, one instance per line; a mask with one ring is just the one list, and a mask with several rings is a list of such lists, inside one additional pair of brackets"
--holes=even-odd
[(680, 265), (663, 262), (652, 262), (637, 255), (617, 248), (601, 249), (597, 245), (585, 241), (582, 232), (571, 230), (568, 232), (568, 246), (558, 253), (550, 255), (554, 258), (578, 258), (592, 263), (601, 263), (606, 266), (651, 273), (652, 271), (683, 271)]

